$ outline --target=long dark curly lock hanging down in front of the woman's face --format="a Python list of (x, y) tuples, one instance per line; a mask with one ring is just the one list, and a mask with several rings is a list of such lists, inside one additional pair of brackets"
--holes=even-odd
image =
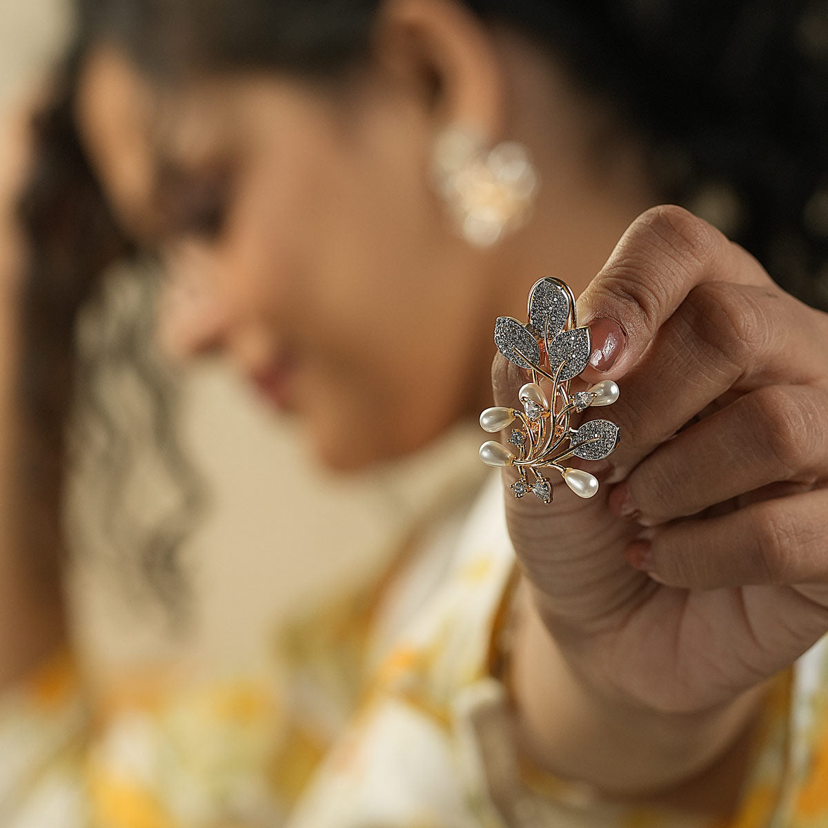
[[(188, 592), (177, 550), (205, 503), (195, 469), (176, 432), (178, 385), (152, 350), (153, 285), (136, 274), (132, 301), (105, 291), (103, 275), (118, 260), (137, 267), (137, 249), (123, 234), (96, 181), (75, 128), (75, 89), (83, 51), (55, 73), (51, 102), (32, 123), (31, 172), (19, 203), (26, 239), (22, 283), (22, 357), (18, 392), (23, 440), (17, 481), (31, 514), (24, 545), (45, 578), (65, 555), (68, 460), (84, 475), (84, 500), (96, 503), (101, 527), (73, 525), (75, 537), (103, 535), (113, 570), (132, 597), (161, 598), (166, 620), (184, 628)], [(145, 268), (146, 269), (146, 268)], [(84, 316), (91, 316), (85, 321)], [(106, 324), (102, 325), (103, 320)], [(89, 324), (92, 323), (92, 324)], [(85, 340), (85, 341), (84, 341)], [(140, 386), (129, 402), (125, 385)], [(104, 387), (105, 386), (105, 387)], [(76, 416), (73, 416), (76, 415)], [(130, 508), (131, 471), (138, 455), (152, 456), (164, 491), (152, 526)], [(77, 450), (80, 449), (80, 450)], [(79, 463), (82, 460), (82, 463)], [(137, 554), (127, 555), (126, 551)], [(142, 578), (134, 577), (134, 566)], [(141, 583), (152, 590), (141, 590)]]

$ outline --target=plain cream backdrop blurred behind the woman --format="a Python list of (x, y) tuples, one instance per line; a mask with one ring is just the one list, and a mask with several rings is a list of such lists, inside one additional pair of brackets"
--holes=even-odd
[[(0, 118), (31, 99), (68, 26), (60, 0), (0, 0)], [(104, 679), (127, 665), (186, 661), (214, 671), (267, 658), (284, 619), (383, 566), (416, 513), (455, 480), (482, 473), (469, 426), (402, 464), (334, 478), (309, 465), (291, 426), (274, 421), (220, 365), (189, 370), (183, 382), (185, 446), (209, 482), (211, 503), (183, 559), (193, 623), (171, 635), (162, 613), (130, 598), (110, 551), (90, 548), (94, 532), (76, 533), (83, 548), (75, 548), (70, 589), (78, 649)], [(84, 496), (87, 484), (76, 476), (74, 526), (97, 517), (89, 514), (99, 501)], [(153, 488), (152, 476), (145, 484)], [(140, 493), (129, 495), (141, 501)]]

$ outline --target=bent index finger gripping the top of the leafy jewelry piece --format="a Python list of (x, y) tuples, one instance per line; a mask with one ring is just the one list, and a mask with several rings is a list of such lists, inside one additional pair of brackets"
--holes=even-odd
[(686, 209), (664, 205), (640, 215), (578, 300), (580, 325), (614, 320), (626, 335), (618, 361), (603, 376), (623, 376), (690, 291), (704, 282), (777, 289), (744, 248)]

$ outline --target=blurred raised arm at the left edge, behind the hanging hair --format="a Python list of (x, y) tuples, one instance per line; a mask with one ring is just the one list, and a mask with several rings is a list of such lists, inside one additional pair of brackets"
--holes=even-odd
[[(19, 680), (65, 642), (60, 574), (28, 560), (26, 509), (14, 473), (22, 427), (17, 399), (17, 312), (25, 254), (17, 227), (17, 195), (29, 160), (31, 102), (2, 118), (0, 139), (0, 688)], [(54, 575), (54, 577), (52, 577)]]

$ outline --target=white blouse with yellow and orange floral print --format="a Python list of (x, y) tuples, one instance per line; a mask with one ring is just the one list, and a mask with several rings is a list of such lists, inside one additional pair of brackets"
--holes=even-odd
[(522, 763), (496, 675), (515, 581), (493, 477), (271, 671), (89, 710), (60, 657), (0, 699), (3, 828), (825, 828), (828, 657), (777, 677), (739, 812), (604, 802)]

